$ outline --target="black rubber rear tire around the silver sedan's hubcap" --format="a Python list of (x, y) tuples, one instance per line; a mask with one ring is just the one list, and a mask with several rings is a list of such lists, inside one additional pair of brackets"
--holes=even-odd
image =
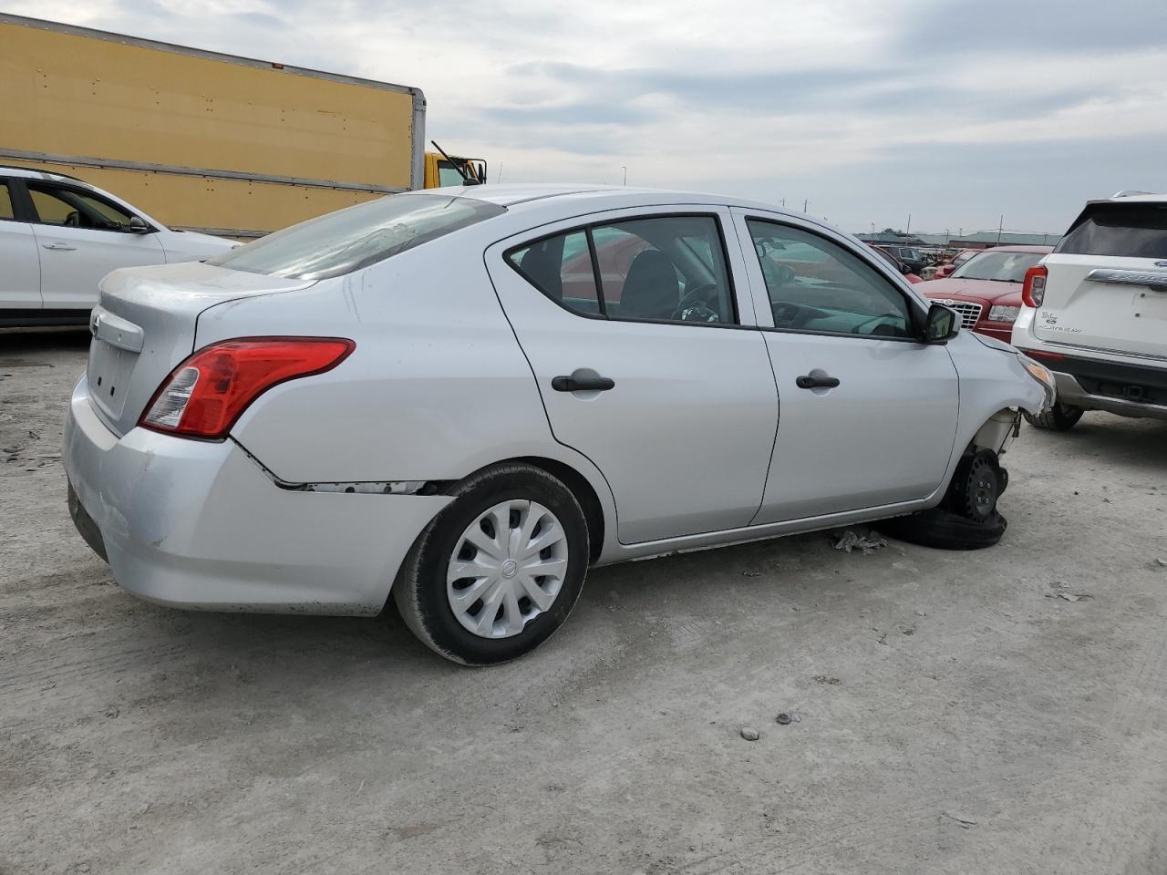
[[(511, 462), (483, 468), (447, 495), (454, 501), (418, 536), (393, 582), (392, 596), (401, 618), (422, 644), (462, 665), (492, 665), (531, 652), (562, 625), (584, 588), (589, 544), (579, 502), (546, 471)], [(467, 526), (494, 505), (511, 499), (537, 502), (555, 516), (566, 534), (567, 569), (554, 602), (529, 620), (522, 631), (505, 638), (480, 637), (455, 616), (447, 597), (446, 569)]]

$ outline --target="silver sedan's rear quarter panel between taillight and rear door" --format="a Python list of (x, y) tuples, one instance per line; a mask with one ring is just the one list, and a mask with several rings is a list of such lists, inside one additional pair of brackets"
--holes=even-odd
[(492, 462), (545, 456), (575, 467), (605, 501), (599, 471), (554, 441), (481, 250), (459, 239), (303, 293), (204, 313), (200, 346), (278, 334), (356, 342), (336, 369), (260, 396), (232, 436), (292, 483), (460, 480)]

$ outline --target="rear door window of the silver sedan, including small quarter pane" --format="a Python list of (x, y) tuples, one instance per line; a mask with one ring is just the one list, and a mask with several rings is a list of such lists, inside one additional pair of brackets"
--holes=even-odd
[(725, 250), (712, 216), (594, 225), (511, 250), (506, 259), (545, 295), (584, 315), (736, 322)]

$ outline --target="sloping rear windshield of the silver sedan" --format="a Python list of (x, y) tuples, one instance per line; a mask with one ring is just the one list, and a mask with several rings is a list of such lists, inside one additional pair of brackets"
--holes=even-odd
[(322, 280), (366, 267), (505, 208), (449, 195), (390, 195), (301, 222), (209, 259), (249, 273)]

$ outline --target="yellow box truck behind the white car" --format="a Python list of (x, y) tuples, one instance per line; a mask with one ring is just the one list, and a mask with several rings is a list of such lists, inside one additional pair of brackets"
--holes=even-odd
[(239, 239), (450, 184), (454, 163), (485, 176), (426, 154), (420, 89), (19, 15), (0, 14), (0, 163)]

